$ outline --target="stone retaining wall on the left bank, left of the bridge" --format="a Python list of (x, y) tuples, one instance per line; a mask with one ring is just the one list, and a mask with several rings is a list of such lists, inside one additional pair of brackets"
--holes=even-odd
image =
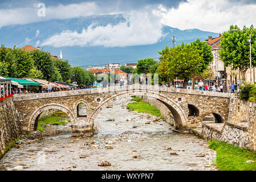
[(18, 114), (11, 98), (0, 103), (0, 158), (20, 135)]

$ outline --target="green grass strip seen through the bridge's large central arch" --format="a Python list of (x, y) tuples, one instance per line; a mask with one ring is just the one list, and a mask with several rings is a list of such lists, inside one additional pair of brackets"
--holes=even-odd
[(138, 113), (150, 113), (152, 115), (156, 115), (157, 117), (163, 118), (159, 109), (150, 105), (148, 102), (141, 100), (139, 97), (133, 97), (132, 101), (137, 102), (129, 103), (126, 107), (127, 109), (135, 110)]

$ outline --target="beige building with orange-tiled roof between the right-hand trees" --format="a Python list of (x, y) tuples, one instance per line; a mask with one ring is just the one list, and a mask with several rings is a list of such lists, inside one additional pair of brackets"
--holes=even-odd
[(221, 48), (221, 38), (223, 35), (219, 35), (217, 38), (212, 38), (212, 36), (208, 36), (208, 39), (205, 42), (208, 43), (209, 46), (212, 47), (213, 53), (213, 61), (209, 65), (210, 69), (210, 77), (208, 78), (209, 84), (213, 85), (214, 82), (218, 82), (218, 84), (225, 84), (224, 78), (224, 63), (220, 60), (219, 50)]

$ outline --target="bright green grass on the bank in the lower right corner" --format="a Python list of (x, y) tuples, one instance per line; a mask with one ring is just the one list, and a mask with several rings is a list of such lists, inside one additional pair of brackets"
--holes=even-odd
[[(216, 151), (216, 166), (221, 171), (256, 171), (256, 153), (226, 142), (212, 140), (209, 147)], [(254, 163), (246, 163), (253, 160)]]

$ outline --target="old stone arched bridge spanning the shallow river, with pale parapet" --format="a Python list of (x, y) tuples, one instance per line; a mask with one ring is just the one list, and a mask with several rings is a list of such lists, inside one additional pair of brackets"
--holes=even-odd
[[(113, 101), (128, 96), (148, 96), (162, 102), (172, 113), (176, 127), (184, 130), (201, 126), (202, 119), (210, 113), (213, 113), (217, 122), (226, 122), (230, 98), (234, 94), (136, 84), (15, 95), (14, 104), (25, 132), (36, 130), (38, 118), (43, 111), (58, 109), (67, 113), (71, 122), (77, 123), (78, 129), (74, 131), (86, 130), (90, 133), (87, 135), (92, 135), (94, 119), (100, 110)], [(86, 106), (86, 115), (79, 115), (80, 103)], [(72, 126), (76, 128), (75, 125)]]

